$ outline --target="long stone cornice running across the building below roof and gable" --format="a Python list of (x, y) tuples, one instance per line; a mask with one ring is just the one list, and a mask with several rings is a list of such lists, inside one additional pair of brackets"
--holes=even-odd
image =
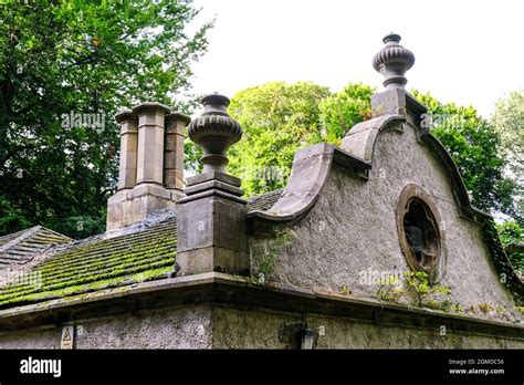
[(61, 324), (129, 311), (190, 304), (312, 313), (379, 325), (471, 333), (524, 341), (524, 325), (358, 299), (322, 289), (261, 285), (252, 279), (210, 272), (101, 290), (0, 311), (0, 331)]

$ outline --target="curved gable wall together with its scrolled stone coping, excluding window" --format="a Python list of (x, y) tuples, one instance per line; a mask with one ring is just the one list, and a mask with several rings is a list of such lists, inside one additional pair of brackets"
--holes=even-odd
[[(347, 288), (353, 295), (373, 298), (378, 288), (360, 282), (366, 274), (410, 271), (399, 244), (395, 207), (402, 188), (416, 184), (428, 191), (442, 217), (446, 241), (440, 283), (451, 287), (452, 301), (463, 308), (513, 305), (483, 241), (482, 222), (474, 220), (489, 216), (464, 201), (460, 175), (452, 173), (454, 164), (440, 143), (430, 134), (420, 135), (409, 121), (382, 118), (382, 127), (370, 128), (376, 133), (366, 136), (373, 144), (365, 147), (373, 152), (369, 159), (360, 160), (361, 165), (373, 160), (365, 178), (334, 160), (334, 154), (356, 159), (344, 149), (321, 144), (302, 152), (310, 157), (297, 155), (295, 165), (301, 167), (293, 169), (283, 196), (268, 211), (249, 215), (255, 223), (251, 241), (254, 272), (275, 248), (275, 233), (276, 238), (287, 233), (289, 241), (277, 247), (270, 279), (301, 288)], [(376, 122), (368, 126), (376, 127)], [(314, 160), (312, 154), (324, 160)], [(304, 166), (308, 164), (313, 166)], [(303, 189), (295, 194), (298, 181)], [(287, 226), (275, 226), (282, 221)], [(271, 236), (256, 232), (259, 222), (272, 222), (276, 231)]]

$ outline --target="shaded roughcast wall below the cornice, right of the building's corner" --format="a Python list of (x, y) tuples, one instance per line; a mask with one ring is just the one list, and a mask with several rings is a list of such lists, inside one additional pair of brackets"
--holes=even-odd
[(302, 323), (314, 332), (313, 348), (522, 348), (524, 339), (459, 334), (440, 329), (396, 327), (344, 318), (303, 316), (231, 308), (213, 310), (214, 348), (296, 348)]

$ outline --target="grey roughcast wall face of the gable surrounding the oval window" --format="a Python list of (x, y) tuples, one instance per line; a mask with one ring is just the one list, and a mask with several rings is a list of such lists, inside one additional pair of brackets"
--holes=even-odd
[[(279, 246), (263, 237), (252, 239), (254, 273), (265, 266), (262, 270), (271, 270), (262, 271), (271, 275), (266, 280), (332, 290), (346, 285), (354, 295), (374, 295), (378, 287), (360, 284), (363, 272), (409, 270), (395, 216), (400, 191), (408, 184), (426, 189), (442, 217), (440, 283), (452, 288), (450, 299), (464, 309), (513, 303), (491, 263), (479, 225), (460, 217), (446, 169), (409, 125), (404, 133), (389, 129), (379, 135), (369, 180), (333, 167), (316, 205), (289, 229), (291, 241)], [(266, 269), (271, 263), (274, 267)]]

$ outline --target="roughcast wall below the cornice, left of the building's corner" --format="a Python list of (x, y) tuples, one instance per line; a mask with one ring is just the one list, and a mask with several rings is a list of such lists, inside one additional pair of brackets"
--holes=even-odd
[[(78, 320), (76, 348), (210, 348), (208, 306), (148, 310)], [(0, 348), (60, 348), (61, 327), (45, 326), (0, 333)]]

